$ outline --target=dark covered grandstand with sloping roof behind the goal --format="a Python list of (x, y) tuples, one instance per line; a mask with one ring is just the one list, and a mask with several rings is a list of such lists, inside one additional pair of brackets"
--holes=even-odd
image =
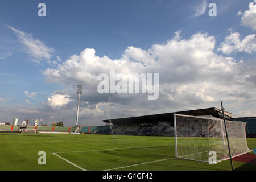
[[(174, 113), (143, 115), (138, 117), (105, 119), (103, 122), (113, 124), (113, 133), (118, 135), (154, 135), (174, 136), (174, 114), (193, 116), (212, 116), (223, 118), (222, 110), (216, 107), (178, 111)], [(231, 121), (233, 114), (225, 111), (225, 119)]]

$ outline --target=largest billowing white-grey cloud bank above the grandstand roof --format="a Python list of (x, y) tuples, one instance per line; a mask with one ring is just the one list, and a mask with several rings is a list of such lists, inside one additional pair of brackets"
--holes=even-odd
[[(251, 37), (239, 43), (247, 45), (247, 39)], [(43, 73), (48, 82), (61, 82), (66, 88), (75, 89), (78, 83), (84, 85), (81, 96), (84, 115), (110, 112), (110, 117), (121, 117), (122, 114), (129, 116), (178, 110), (179, 107), (198, 109), (219, 104), (220, 100), (230, 103), (255, 100), (255, 89), (251, 89), (251, 80), (248, 80), (254, 78), (253, 69), (233, 57), (218, 55), (214, 52), (215, 44), (214, 36), (203, 33), (196, 33), (189, 39), (174, 36), (147, 50), (127, 47), (123, 55), (115, 60), (97, 56), (93, 48), (86, 48), (79, 55), (70, 56), (57, 68), (48, 68)], [(247, 46), (244, 51), (253, 50)], [(159, 73), (158, 100), (148, 101), (143, 94), (99, 94), (97, 76), (100, 73), (109, 75), (112, 68), (123, 75)], [(247, 90), (247, 93), (242, 90)], [(63, 98), (68, 103), (69, 98), (77, 97), (75, 90), (72, 92), (68, 94), (71, 97), (61, 95), (61, 103)], [(51, 105), (53, 98), (48, 98), (48, 104)], [(71, 107), (75, 112), (76, 102)]]

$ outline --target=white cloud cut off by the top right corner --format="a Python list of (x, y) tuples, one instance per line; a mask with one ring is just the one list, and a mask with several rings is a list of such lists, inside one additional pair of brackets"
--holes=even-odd
[(250, 27), (256, 30), (256, 4), (254, 2), (249, 3), (249, 10), (246, 10), (242, 14), (241, 22), (244, 26)]

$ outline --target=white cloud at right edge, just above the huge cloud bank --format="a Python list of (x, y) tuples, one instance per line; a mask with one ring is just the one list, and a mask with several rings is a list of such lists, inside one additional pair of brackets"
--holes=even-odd
[(255, 34), (247, 35), (244, 39), (240, 40), (238, 32), (230, 33), (230, 35), (226, 36), (225, 42), (220, 44), (218, 51), (228, 55), (232, 52), (254, 53), (256, 51)]

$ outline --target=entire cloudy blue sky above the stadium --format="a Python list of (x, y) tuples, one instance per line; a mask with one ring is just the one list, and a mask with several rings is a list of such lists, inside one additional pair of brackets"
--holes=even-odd
[[(254, 0), (2, 0), (0, 122), (74, 126), (80, 84), (79, 125), (220, 101), (235, 117), (256, 116), (255, 30)], [(99, 93), (97, 77), (111, 69), (159, 74), (159, 97)]]

